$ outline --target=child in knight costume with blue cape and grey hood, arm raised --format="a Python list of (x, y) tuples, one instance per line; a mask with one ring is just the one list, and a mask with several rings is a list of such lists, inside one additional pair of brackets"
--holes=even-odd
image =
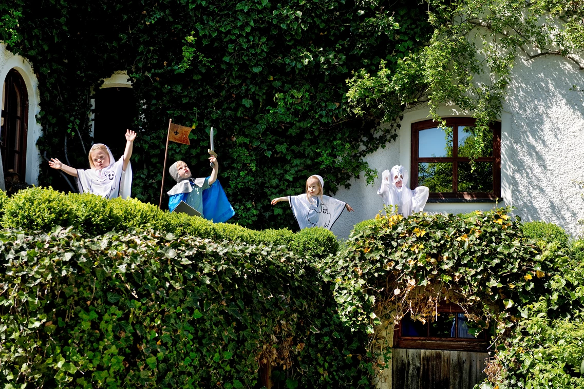
[(203, 178), (191, 178), (189, 166), (183, 161), (177, 161), (169, 169), (176, 185), (166, 194), (170, 196), (168, 209), (172, 212), (176, 206), (184, 201), (194, 208), (201, 216), (215, 223), (223, 223), (235, 215), (235, 211), (227, 200), (223, 187), (217, 180), (219, 163), (217, 157), (210, 156), (213, 164), (211, 176)]

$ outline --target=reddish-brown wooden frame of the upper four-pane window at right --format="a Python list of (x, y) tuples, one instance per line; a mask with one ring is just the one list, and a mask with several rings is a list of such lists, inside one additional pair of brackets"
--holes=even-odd
[(453, 191), (430, 192), (430, 199), (488, 199), (495, 200), (501, 197), (501, 124), (495, 122), (491, 125), (493, 130), (493, 156), (476, 158), (477, 162), (493, 163), (493, 191), (492, 192), (458, 192), (458, 163), (470, 162), (469, 157), (458, 157), (458, 126), (474, 127), (476, 120), (468, 117), (447, 118), (447, 127), (453, 128), (453, 157), (419, 157), (419, 132), (423, 129), (435, 128), (438, 123), (433, 120), (425, 120), (412, 123), (412, 176), (411, 187), (418, 187), (418, 164), (429, 162), (447, 162), (453, 164)]

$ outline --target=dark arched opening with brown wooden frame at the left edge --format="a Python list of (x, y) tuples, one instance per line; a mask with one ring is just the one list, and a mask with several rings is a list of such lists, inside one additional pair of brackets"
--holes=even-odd
[(26, 135), (29, 118), (29, 95), (25, 80), (15, 69), (11, 69), (2, 87), (2, 119), (0, 127), (0, 153), (6, 179), (16, 175), (16, 180), (25, 181)]

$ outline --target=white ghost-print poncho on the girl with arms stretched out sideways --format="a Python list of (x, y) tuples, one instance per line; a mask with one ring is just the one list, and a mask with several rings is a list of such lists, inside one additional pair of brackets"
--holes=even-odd
[(305, 193), (288, 196), (288, 201), (300, 229), (324, 227), (330, 230), (347, 205), (336, 198), (323, 195), (321, 199)]

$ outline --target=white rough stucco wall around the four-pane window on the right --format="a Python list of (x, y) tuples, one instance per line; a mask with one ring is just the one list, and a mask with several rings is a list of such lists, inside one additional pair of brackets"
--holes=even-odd
[[(561, 57), (519, 58), (500, 115), (501, 195), (500, 205), (513, 205), (522, 220), (544, 220), (564, 227), (573, 236), (581, 232), (584, 219), (584, 71)], [(349, 190), (335, 195), (348, 202), (354, 213), (343, 212), (332, 231), (346, 238), (355, 223), (371, 219), (383, 208), (377, 195), (381, 172), (402, 164), (410, 171), (412, 122), (427, 120), (429, 110), (420, 107), (404, 114), (396, 142), (366, 157), (377, 170), (376, 184), (367, 187), (364, 177), (353, 180)], [(456, 107), (443, 107), (443, 117), (468, 116)], [(428, 212), (470, 212), (491, 209), (493, 203), (429, 203)]]

